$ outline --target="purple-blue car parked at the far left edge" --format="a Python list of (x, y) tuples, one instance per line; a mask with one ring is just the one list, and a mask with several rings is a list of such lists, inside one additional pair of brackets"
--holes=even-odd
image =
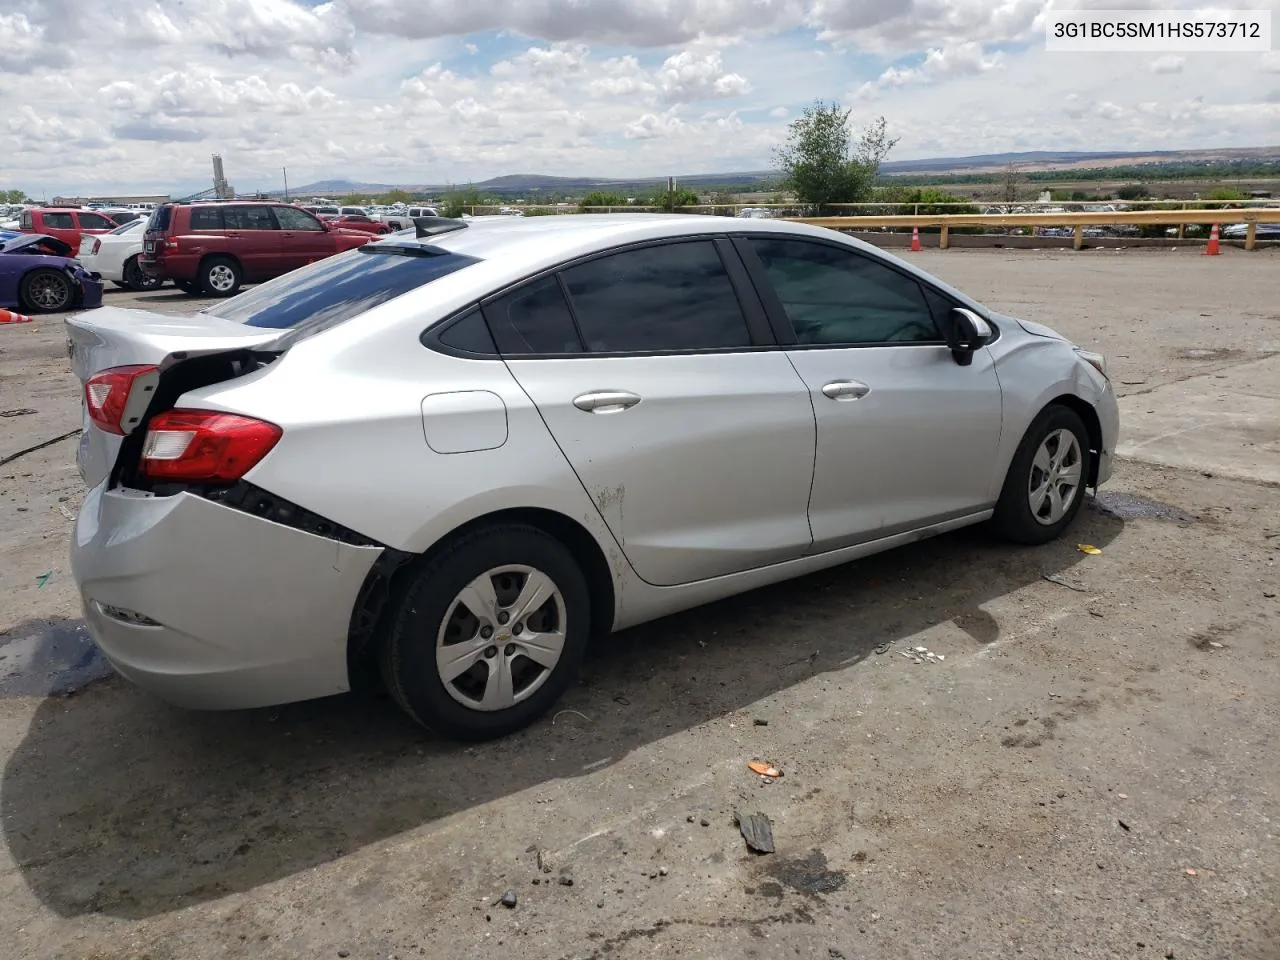
[(0, 307), (52, 314), (102, 306), (102, 280), (67, 243), (40, 233), (0, 230)]

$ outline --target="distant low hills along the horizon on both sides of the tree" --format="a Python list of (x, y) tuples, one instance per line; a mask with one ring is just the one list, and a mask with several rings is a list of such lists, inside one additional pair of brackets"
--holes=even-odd
[[(1158, 164), (1231, 163), (1245, 160), (1280, 160), (1280, 146), (1224, 147), (1217, 150), (1146, 150), (1146, 151), (1076, 151), (1032, 150), (1009, 154), (982, 154), (978, 156), (943, 156), (923, 160), (891, 160), (881, 166), (887, 177), (902, 174), (963, 174), (991, 173), (1014, 164), (1023, 173), (1038, 170), (1080, 170), (1107, 166), (1138, 166)], [(728, 173), (703, 173), (676, 177), (687, 187), (712, 188), (717, 186), (750, 187), (776, 182), (776, 170), (745, 170)], [(292, 196), (339, 197), (349, 193), (385, 193), (404, 189), (410, 193), (442, 195), (460, 187), (474, 187), (480, 193), (500, 197), (518, 197), (547, 193), (586, 193), (604, 189), (616, 193), (648, 193), (666, 183), (666, 177), (549, 177), (518, 173), (494, 177), (477, 183), (366, 183), (351, 179), (328, 179), (291, 187)], [(279, 193), (280, 191), (275, 191)]]

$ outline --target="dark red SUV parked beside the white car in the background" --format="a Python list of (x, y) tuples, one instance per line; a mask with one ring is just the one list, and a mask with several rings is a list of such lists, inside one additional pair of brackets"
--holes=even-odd
[(165, 204), (147, 221), (138, 266), (187, 293), (230, 297), (241, 283), (269, 280), (369, 239), (289, 204)]

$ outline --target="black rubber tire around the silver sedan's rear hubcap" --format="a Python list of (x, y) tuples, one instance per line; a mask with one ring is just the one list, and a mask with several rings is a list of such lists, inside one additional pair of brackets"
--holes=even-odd
[[(481, 710), (467, 707), (456, 699), (462, 695), (460, 685), (474, 684), (477, 676), (488, 678), (490, 663), (518, 650), (516, 625), (497, 628), (489, 648), (497, 650), (497, 658), (483, 662), (483, 675), (475, 673), (475, 668), (481, 666), (481, 660), (476, 659), (472, 668), (457, 678), (457, 685), (451, 684), (453, 692), (445, 689), (445, 681), (436, 668), (438, 639), (447, 627), (445, 617), (454, 609), (454, 602), (463, 588), (485, 572), (516, 564), (541, 572), (559, 591), (564, 617), (564, 643), (559, 659), (548, 671), (518, 653), (512, 654), (507, 660), (515, 667), (512, 676), (517, 672), (529, 676), (532, 671), (540, 671), (536, 673), (543, 677), (540, 685), (535, 686), (532, 680), (524, 684), (524, 689), (531, 689), (531, 692), (506, 709)], [(506, 736), (543, 716), (573, 681), (590, 639), (591, 598), (582, 571), (556, 538), (522, 524), (484, 527), (449, 544), (408, 576), (399, 595), (399, 607), (384, 637), (380, 660), (387, 689), (401, 708), (424, 727), (457, 740)], [(502, 576), (490, 582), (500, 585)], [(554, 602), (549, 603), (554, 612)], [(506, 632), (508, 628), (511, 634)], [(476, 630), (479, 631), (479, 626)], [(474, 636), (484, 634), (476, 632)], [(479, 685), (484, 686), (484, 682)], [(520, 687), (521, 684), (512, 684), (512, 689)]]

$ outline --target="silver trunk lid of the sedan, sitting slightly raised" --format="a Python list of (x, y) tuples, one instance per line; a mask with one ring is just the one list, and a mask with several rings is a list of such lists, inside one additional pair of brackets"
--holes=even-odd
[[(128, 364), (150, 364), (161, 375), (174, 364), (192, 357), (262, 347), (280, 337), (280, 330), (247, 326), (207, 314), (165, 315), (147, 310), (100, 307), (69, 316), (67, 353), (72, 372), (83, 384), (97, 372)], [(83, 433), (76, 462), (88, 486), (97, 486), (111, 472), (123, 436), (106, 433), (88, 416), (81, 394)]]

